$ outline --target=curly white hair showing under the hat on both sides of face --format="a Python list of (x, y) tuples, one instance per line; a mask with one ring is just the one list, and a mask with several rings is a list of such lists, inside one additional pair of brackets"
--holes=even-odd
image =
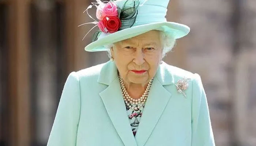
[[(173, 47), (176, 45), (176, 39), (174, 39), (174, 37), (172, 35), (170, 35), (169, 33), (165, 32), (165, 31), (160, 31), (160, 40), (162, 43), (162, 58), (165, 57), (166, 53), (168, 53), (169, 51), (172, 51)], [(108, 49), (108, 57), (111, 57), (111, 53), (110, 53), (110, 49), (111, 47), (114, 46), (113, 43), (104, 45), (106, 49)]]

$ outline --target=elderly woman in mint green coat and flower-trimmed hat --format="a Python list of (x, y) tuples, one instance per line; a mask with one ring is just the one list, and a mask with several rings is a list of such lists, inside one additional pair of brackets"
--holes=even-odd
[(162, 61), (189, 32), (166, 22), (168, 2), (94, 3), (100, 32), (85, 50), (111, 60), (69, 74), (48, 146), (215, 146), (199, 74)]

